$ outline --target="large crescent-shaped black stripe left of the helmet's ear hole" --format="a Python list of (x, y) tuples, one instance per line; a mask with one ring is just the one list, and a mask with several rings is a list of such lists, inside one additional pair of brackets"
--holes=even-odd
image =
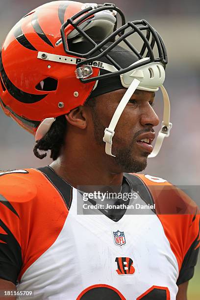
[(29, 93), (23, 92), (22, 90), (18, 89), (10, 81), (10, 79), (8, 78), (8, 76), (5, 73), (5, 70), (4, 70), (3, 64), (2, 64), (1, 50), (0, 50), (0, 74), (1, 74), (1, 78), (3, 80), (3, 83), (4, 83), (8, 93), (20, 102), (31, 104), (31, 103), (35, 103), (35, 102), (42, 100), (43, 98), (45, 98), (48, 95), (48, 94), (43, 94), (43, 95), (29, 94)]

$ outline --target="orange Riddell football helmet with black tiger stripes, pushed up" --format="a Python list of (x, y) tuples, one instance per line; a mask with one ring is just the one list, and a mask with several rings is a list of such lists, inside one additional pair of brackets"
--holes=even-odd
[[(122, 25), (118, 29), (117, 15)], [(140, 50), (127, 39), (135, 34), (142, 42)], [(121, 42), (135, 57), (128, 66), (110, 55)], [(102, 79), (119, 76), (128, 88), (135, 78), (131, 93), (136, 88), (157, 91), (166, 64), (163, 40), (147, 21), (125, 23), (123, 12), (112, 3), (53, 1), (25, 15), (5, 38), (0, 50), (0, 106), (33, 134), (47, 120), (45, 133), (57, 116), (83, 105)], [(127, 101), (126, 97), (121, 106)], [(110, 155), (122, 107), (112, 128), (105, 130)], [(166, 135), (169, 120), (164, 127)]]

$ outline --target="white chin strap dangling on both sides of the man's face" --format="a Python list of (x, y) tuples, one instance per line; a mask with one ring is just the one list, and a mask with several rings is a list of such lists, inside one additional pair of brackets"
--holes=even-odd
[[(140, 80), (134, 78), (130, 86), (126, 90), (122, 100), (120, 101), (112, 117), (110, 125), (104, 130), (103, 142), (105, 142), (105, 152), (108, 155), (115, 157), (115, 155), (112, 154), (112, 138), (115, 134), (115, 127), (120, 119), (120, 116), (122, 115), (125, 109), (126, 104), (130, 100), (131, 96), (133, 95), (133, 93), (135, 92), (139, 84), (140, 84)], [(158, 133), (155, 146), (153, 148), (153, 151), (149, 155), (149, 157), (155, 157), (159, 153), (164, 138), (169, 136), (170, 129), (172, 128), (172, 123), (170, 123), (170, 100), (167, 91), (165, 90), (163, 85), (161, 86), (161, 91), (162, 91), (163, 101), (164, 101), (162, 128)]]

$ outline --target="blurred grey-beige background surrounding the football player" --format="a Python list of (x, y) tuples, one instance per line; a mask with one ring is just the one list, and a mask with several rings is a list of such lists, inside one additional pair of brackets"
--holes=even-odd
[[(1, 0), (0, 44), (26, 13), (45, 0)], [(84, 1), (80, 1), (84, 2)], [(95, 1), (87, 1), (95, 2)], [(99, 1), (98, 3), (103, 3)], [(146, 19), (161, 34), (168, 50), (165, 87), (171, 99), (173, 129), (160, 154), (149, 159), (146, 174), (176, 185), (200, 185), (200, 1), (113, 0), (127, 21)], [(16, 57), (17, 59), (17, 57)], [(162, 120), (161, 95), (154, 106)], [(0, 170), (41, 167), (50, 163), (34, 157), (34, 138), (0, 110)], [(200, 264), (189, 284), (188, 300), (200, 299)]]

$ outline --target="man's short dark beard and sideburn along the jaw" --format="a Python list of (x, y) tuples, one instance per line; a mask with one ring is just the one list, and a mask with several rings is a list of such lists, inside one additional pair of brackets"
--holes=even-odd
[[(92, 109), (92, 118), (94, 124), (94, 136), (95, 141), (98, 145), (105, 145), (103, 142), (103, 133), (105, 126), (102, 125), (99, 116), (97, 115), (95, 108)], [(147, 157), (150, 153), (144, 153), (143, 158), (136, 159), (133, 156), (132, 151), (134, 144), (136, 143), (135, 138), (128, 147), (119, 148), (117, 145), (121, 145), (121, 140), (115, 136), (114, 143), (112, 145), (112, 152), (116, 157), (114, 158), (122, 172), (126, 173), (137, 173), (143, 171), (147, 167)]]

